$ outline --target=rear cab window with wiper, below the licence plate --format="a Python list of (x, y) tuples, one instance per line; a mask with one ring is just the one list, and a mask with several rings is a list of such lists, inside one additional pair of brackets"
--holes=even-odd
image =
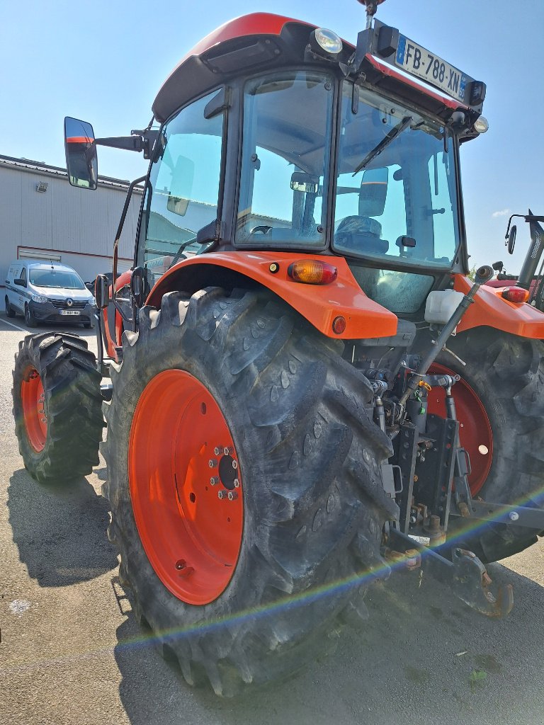
[(450, 268), (459, 243), (451, 138), (411, 109), (355, 93), (344, 83), (334, 249), (385, 265)]

